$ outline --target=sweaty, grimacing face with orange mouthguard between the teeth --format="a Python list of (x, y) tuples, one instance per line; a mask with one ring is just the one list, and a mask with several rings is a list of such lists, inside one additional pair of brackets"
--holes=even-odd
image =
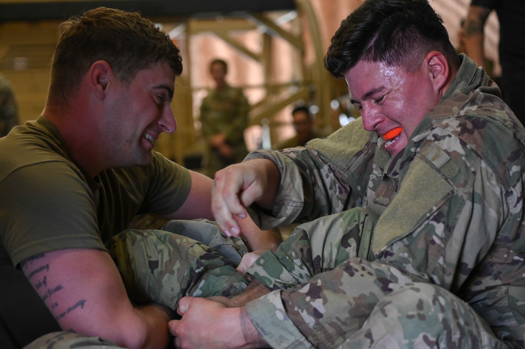
[(361, 111), (363, 126), (385, 139), (398, 127), (401, 134), (386, 136), (386, 150), (392, 156), (403, 149), (423, 117), (439, 102), (424, 69), (408, 73), (384, 62), (359, 61), (344, 74), (352, 104)]

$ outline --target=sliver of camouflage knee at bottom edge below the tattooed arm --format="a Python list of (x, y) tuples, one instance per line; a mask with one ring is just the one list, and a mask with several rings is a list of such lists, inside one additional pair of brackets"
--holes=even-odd
[(71, 332), (53, 332), (27, 344), (24, 349), (111, 349), (117, 344), (101, 337), (88, 337)]

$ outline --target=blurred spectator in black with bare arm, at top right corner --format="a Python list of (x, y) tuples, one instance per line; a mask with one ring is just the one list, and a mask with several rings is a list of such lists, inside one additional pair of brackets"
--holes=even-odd
[(503, 99), (524, 124), (525, 106), (521, 103), (521, 86), (525, 81), (525, 2), (472, 0), (464, 26), (467, 54), (476, 63), (484, 64), (483, 28), (493, 9), (496, 10), (500, 26), (499, 60)]

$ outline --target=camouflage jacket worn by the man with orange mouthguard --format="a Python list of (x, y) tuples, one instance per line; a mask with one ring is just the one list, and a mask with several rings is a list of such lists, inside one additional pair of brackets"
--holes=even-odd
[[(442, 101), (393, 158), (384, 151), (382, 138), (366, 132), (360, 119), (306, 148), (251, 153), (247, 160), (276, 163), (281, 184), (271, 212), (250, 215), (268, 229), (367, 208), (379, 220), (368, 260), (356, 262), (373, 270), (359, 279), (359, 288), (370, 290), (361, 299), (373, 299), (362, 307), (373, 307), (392, 291), (389, 284), (430, 282), (469, 303), (502, 341), (523, 347), (525, 133), (488, 75), (464, 54), (460, 58)], [(277, 290), (257, 300), (277, 304), (282, 312), (268, 313), (276, 321), (287, 314), (284, 324), (260, 330), (302, 333), (310, 343), (338, 343), (338, 328), (353, 312), (356, 298), (332, 304), (337, 314), (314, 309), (323, 304), (313, 300), (304, 309), (282, 305), (300, 292)], [(323, 298), (322, 289), (319, 293), (316, 297)], [(304, 315), (319, 311), (324, 323), (332, 316), (338, 325), (328, 328)], [(304, 337), (296, 339), (305, 343)]]

